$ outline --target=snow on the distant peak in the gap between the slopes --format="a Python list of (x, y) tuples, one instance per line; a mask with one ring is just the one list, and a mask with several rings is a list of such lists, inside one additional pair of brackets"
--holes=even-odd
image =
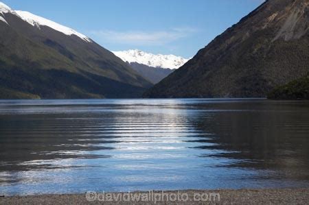
[(149, 67), (160, 67), (163, 69), (178, 69), (189, 60), (182, 58), (181, 56), (162, 54), (155, 55), (137, 49), (128, 51), (113, 51), (113, 53), (124, 60), (124, 62), (137, 62), (139, 64), (146, 64)]

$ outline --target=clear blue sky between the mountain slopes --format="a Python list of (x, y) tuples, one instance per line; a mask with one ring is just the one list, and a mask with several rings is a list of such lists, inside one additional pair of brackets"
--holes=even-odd
[(263, 1), (3, 0), (3, 3), (76, 29), (109, 50), (141, 49), (189, 58)]

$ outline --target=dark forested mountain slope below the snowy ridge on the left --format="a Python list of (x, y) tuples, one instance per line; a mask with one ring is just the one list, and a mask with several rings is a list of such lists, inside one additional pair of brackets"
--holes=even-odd
[(151, 86), (92, 40), (0, 16), (0, 98), (140, 97)]

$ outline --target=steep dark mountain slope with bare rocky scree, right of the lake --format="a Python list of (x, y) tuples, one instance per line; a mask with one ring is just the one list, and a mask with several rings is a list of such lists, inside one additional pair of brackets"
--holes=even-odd
[(269, 0), (145, 97), (265, 97), (309, 71), (309, 1)]

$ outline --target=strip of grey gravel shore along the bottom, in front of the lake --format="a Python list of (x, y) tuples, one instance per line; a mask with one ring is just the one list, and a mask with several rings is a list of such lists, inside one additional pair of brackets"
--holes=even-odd
[[(144, 194), (144, 200), (148, 196), (148, 202), (141, 201), (124, 201), (116, 202), (115, 197), (119, 193), (109, 193), (113, 195), (113, 202), (108, 200), (108, 193), (90, 194), (91, 197), (97, 197), (97, 200), (89, 202), (85, 194), (62, 194), (62, 195), (27, 195), (27, 196), (10, 196), (0, 197), (0, 204), (309, 204), (309, 189), (222, 189), (222, 190), (187, 190), (187, 191), (163, 191), (165, 194), (164, 201), (155, 202), (152, 195), (163, 194), (162, 191), (155, 192), (134, 192)], [(129, 193), (129, 194), (134, 194)], [(220, 201), (218, 195), (220, 194)], [(124, 194), (124, 193), (120, 193)], [(168, 195), (168, 196), (167, 196)], [(175, 196), (178, 195), (178, 200), (172, 202)], [(104, 201), (102, 201), (104, 196)], [(98, 197), (101, 197), (99, 201)], [(172, 197), (167, 200), (167, 197)], [(188, 197), (188, 198), (187, 198)], [(195, 197), (195, 199), (194, 199)], [(208, 197), (208, 200), (206, 200)], [(209, 198), (211, 197), (211, 202)]]

